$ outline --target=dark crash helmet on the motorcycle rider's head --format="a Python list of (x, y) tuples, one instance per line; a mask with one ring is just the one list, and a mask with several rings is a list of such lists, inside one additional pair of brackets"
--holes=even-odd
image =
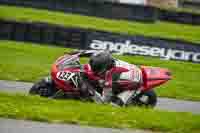
[(112, 67), (113, 58), (109, 51), (100, 51), (91, 56), (89, 64), (93, 72), (104, 74)]

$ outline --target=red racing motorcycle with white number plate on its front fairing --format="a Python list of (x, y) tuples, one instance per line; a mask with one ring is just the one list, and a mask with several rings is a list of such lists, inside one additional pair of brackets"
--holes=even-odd
[[(64, 97), (82, 99), (83, 96), (81, 96), (80, 93), (79, 83), (82, 74), (85, 74), (94, 83), (94, 88), (88, 91), (90, 94), (88, 97), (85, 97), (85, 99), (94, 100), (90, 98), (90, 96), (94, 97), (95, 95), (97, 99), (94, 101), (101, 101), (102, 87), (97, 81), (103, 79), (94, 76), (89, 64), (81, 65), (79, 62), (80, 57), (89, 57), (91, 54), (94, 54), (94, 52), (93, 50), (83, 50), (65, 54), (58, 58), (52, 65), (51, 76), (35, 83), (29, 93), (51, 98)], [(123, 62), (120, 60), (118, 61)], [(170, 80), (172, 78), (171, 73), (168, 69), (158, 67), (140, 66), (138, 68), (141, 71), (138, 76), (142, 77), (142, 84), (137, 89), (133, 89), (128, 80), (109, 80), (112, 79), (112, 75), (108, 74), (106, 78), (108, 78), (110, 84), (117, 82), (118, 85), (115, 96), (120, 100), (115, 100), (114, 102), (121, 106), (145, 105), (154, 107), (157, 103), (157, 96), (154, 88)], [(123, 67), (115, 67), (112, 71), (112, 73), (121, 72), (123, 72)]]

